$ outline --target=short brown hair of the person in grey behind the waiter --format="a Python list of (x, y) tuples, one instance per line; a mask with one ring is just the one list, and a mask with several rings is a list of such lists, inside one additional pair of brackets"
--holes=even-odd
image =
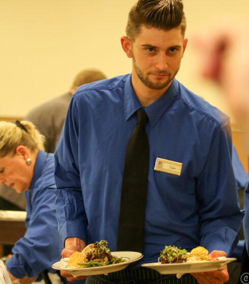
[(79, 86), (91, 82), (107, 79), (104, 73), (98, 69), (85, 69), (82, 70), (74, 79), (72, 89), (77, 89)]

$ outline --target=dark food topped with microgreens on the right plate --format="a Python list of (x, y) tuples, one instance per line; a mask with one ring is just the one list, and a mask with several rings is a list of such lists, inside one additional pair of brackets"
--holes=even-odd
[(186, 261), (188, 252), (176, 246), (166, 245), (160, 253), (159, 262), (161, 263), (180, 263)]

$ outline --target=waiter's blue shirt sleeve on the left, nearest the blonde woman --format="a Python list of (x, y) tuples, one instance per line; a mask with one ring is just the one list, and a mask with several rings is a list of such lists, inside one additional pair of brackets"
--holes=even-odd
[(74, 104), (69, 106), (64, 129), (55, 151), (56, 211), (59, 234), (63, 241), (67, 237), (87, 239), (87, 219), (82, 196), (79, 172), (79, 110)]

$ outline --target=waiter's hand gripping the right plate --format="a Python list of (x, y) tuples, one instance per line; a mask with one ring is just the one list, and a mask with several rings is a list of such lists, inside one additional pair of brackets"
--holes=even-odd
[[(212, 257), (226, 257), (223, 251), (213, 251), (210, 253)], [(191, 273), (200, 284), (223, 284), (229, 280), (227, 265), (221, 269), (210, 272)]]

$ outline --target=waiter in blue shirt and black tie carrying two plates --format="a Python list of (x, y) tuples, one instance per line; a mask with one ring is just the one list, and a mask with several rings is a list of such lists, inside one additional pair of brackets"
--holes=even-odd
[[(180, 0), (139, 0), (129, 14), (127, 37), (121, 38), (132, 74), (81, 86), (72, 98), (55, 152), (63, 257), (100, 239), (116, 250), (124, 156), (137, 110), (148, 116), (144, 257), (130, 278), (126, 269), (90, 276), (87, 283), (221, 284), (228, 279), (226, 267), (181, 279), (140, 267), (156, 262), (165, 245), (188, 251), (202, 245), (214, 257), (229, 255), (242, 218), (229, 119), (174, 79), (187, 44), (182, 10)], [(158, 170), (158, 158), (181, 163), (181, 170), (172, 174), (167, 161), (166, 170)]]

